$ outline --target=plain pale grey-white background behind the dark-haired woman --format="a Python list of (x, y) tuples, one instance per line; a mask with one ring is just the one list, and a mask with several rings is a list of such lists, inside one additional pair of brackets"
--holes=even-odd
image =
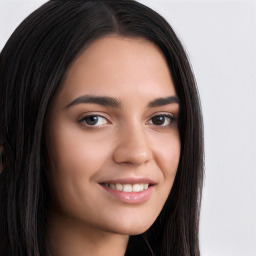
[[(44, 0), (0, 0), (0, 49)], [(203, 256), (256, 255), (256, 3), (141, 0), (183, 42), (205, 123)]]

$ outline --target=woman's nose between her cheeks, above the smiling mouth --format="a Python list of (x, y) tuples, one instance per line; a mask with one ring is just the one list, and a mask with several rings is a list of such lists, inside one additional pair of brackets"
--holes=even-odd
[(152, 157), (153, 154), (143, 127), (126, 127), (120, 132), (113, 154), (116, 163), (142, 165), (149, 162)]

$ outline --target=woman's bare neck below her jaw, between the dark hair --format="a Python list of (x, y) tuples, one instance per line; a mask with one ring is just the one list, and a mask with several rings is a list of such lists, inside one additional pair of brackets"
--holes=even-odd
[(72, 219), (48, 217), (46, 243), (53, 256), (123, 256), (128, 235), (97, 230)]

